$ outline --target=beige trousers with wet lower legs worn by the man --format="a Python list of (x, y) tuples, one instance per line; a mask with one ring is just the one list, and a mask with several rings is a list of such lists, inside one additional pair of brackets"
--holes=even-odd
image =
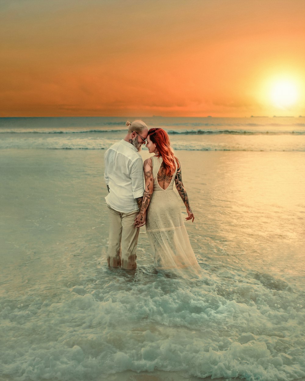
[(131, 270), (136, 269), (136, 245), (140, 227), (134, 222), (138, 211), (129, 213), (118, 212), (108, 206), (109, 215), (109, 243), (108, 266)]

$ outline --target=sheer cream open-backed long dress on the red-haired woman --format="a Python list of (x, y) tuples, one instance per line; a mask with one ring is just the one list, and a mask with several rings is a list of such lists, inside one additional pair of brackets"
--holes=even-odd
[(181, 215), (181, 202), (173, 190), (177, 163), (169, 186), (163, 189), (157, 180), (162, 157), (151, 159), (154, 191), (146, 214), (146, 232), (154, 250), (155, 266), (183, 276), (198, 275), (200, 266), (189, 242)]

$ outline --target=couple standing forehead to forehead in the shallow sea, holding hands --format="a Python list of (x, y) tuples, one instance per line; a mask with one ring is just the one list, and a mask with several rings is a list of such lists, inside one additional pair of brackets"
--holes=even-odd
[[(194, 255), (173, 184), (183, 200), (188, 217), (194, 221), (181, 177), (178, 158), (162, 128), (148, 127), (141, 120), (126, 122), (128, 133), (105, 153), (104, 178), (108, 188), (109, 212), (108, 265), (136, 268), (136, 245), (140, 226), (154, 250), (157, 269), (178, 274), (198, 274)], [(143, 144), (152, 157), (143, 163), (139, 151)], [(140, 211), (139, 211), (140, 210)]]

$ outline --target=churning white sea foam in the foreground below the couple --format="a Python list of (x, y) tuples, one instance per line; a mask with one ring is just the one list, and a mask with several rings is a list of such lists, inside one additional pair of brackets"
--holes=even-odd
[(1, 373), (20, 381), (155, 368), (201, 378), (305, 376), (305, 310), (294, 290), (237, 277), (220, 295), (223, 279), (208, 272), (193, 282), (155, 277), (114, 277), (104, 285), (75, 285), (58, 300), (24, 296), (18, 305), (7, 303)]

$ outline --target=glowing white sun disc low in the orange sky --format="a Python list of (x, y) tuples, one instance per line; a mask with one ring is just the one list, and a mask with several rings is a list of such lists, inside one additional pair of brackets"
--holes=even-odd
[(291, 79), (277, 79), (270, 86), (270, 100), (281, 109), (294, 106), (299, 97), (297, 85)]

